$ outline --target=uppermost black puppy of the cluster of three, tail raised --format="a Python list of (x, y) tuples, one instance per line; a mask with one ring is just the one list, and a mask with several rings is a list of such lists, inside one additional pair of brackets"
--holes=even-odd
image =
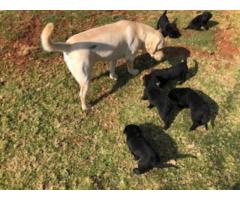
[(188, 73), (187, 60), (180, 62), (170, 68), (167, 69), (156, 69), (151, 72), (152, 76), (156, 77), (157, 83), (159, 83), (159, 87), (164, 87), (169, 81), (177, 80), (182, 84), (186, 81)]

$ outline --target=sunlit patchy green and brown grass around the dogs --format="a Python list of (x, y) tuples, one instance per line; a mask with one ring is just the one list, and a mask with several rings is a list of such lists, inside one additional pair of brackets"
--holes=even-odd
[[(159, 64), (138, 58), (135, 65), (142, 71), (135, 77), (127, 73), (125, 63), (121, 62), (117, 82), (109, 79), (107, 65), (99, 63), (93, 70), (93, 77), (98, 78), (91, 82), (87, 98), (90, 102), (100, 100), (90, 111), (83, 112), (79, 87), (61, 54), (44, 53), (39, 40), (32, 44), (38, 48), (25, 57), (15, 54), (13, 48), (18, 40), (26, 44), (22, 33), (33, 17), (40, 19), (39, 31), (48, 21), (54, 22), (53, 38), (63, 40), (73, 33), (119, 19), (154, 26), (159, 13), (0, 12), (0, 38), (5, 44), (4, 54), (0, 54), (1, 189), (239, 188), (239, 57), (237, 54), (234, 59), (224, 57), (215, 38), (216, 33), (228, 26), (229, 17), (237, 23), (239, 12), (214, 11), (219, 25), (208, 32), (187, 30), (182, 31), (178, 40), (167, 38), (169, 46), (190, 48), (190, 68), (194, 66), (193, 60), (199, 63), (197, 74), (177, 87), (201, 90), (218, 104), (215, 127), (210, 126), (208, 131), (201, 127), (189, 133), (189, 110), (180, 112), (171, 128), (163, 131), (156, 110), (148, 110), (147, 102), (140, 100), (142, 74), (149, 67), (167, 67), (176, 58)], [(195, 11), (170, 11), (169, 18), (177, 17), (179, 27), (183, 28), (195, 14)], [(29, 37), (39, 36), (40, 32), (33, 32)], [(234, 40), (235, 43), (240, 44), (238, 40)], [(214, 52), (214, 56), (201, 54), (204, 51)], [(15, 56), (8, 57), (9, 53)], [(18, 64), (21, 59), (25, 60), (24, 64)], [(136, 123), (147, 131), (145, 136), (155, 150), (165, 160), (176, 162), (179, 169), (153, 169), (141, 176), (134, 175), (132, 169), (137, 163), (129, 153), (122, 132), (129, 123)]]

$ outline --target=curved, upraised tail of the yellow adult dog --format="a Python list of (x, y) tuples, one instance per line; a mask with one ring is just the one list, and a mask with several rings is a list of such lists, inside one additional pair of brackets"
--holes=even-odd
[(64, 42), (52, 42), (50, 37), (52, 35), (54, 29), (53, 23), (48, 23), (42, 31), (41, 34), (41, 42), (42, 47), (45, 51), (59, 51), (59, 52), (67, 52), (70, 50), (71, 45)]

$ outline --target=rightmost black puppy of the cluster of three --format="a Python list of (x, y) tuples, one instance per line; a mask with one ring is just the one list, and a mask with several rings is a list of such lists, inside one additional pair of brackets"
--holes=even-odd
[(190, 108), (192, 126), (190, 131), (195, 130), (198, 126), (205, 125), (208, 129), (207, 123), (210, 120), (210, 107), (204, 99), (190, 88), (175, 88), (169, 94), (169, 98), (177, 103), (180, 108)]

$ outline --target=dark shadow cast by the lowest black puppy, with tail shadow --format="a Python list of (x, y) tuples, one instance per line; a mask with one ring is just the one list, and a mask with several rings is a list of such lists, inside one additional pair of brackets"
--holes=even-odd
[(197, 158), (192, 154), (179, 153), (174, 139), (159, 126), (152, 123), (145, 123), (140, 124), (139, 127), (142, 129), (146, 140), (158, 153), (162, 162), (183, 158)]

